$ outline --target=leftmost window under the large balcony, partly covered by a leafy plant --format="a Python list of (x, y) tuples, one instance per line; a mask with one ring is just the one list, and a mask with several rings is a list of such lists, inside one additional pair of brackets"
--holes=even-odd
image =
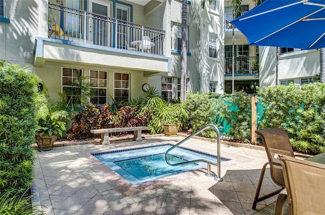
[(78, 86), (82, 77), (82, 69), (62, 68), (62, 91), (68, 103), (81, 105), (81, 89)]

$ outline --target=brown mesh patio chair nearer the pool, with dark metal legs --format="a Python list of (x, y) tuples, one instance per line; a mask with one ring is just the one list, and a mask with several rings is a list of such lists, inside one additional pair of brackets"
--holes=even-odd
[[(275, 154), (287, 155), (290, 157), (295, 157), (293, 148), (290, 145), (290, 140), (288, 134), (281, 128), (272, 128), (255, 131), (259, 136), (262, 137), (263, 145), (267, 153), (269, 162), (264, 164), (262, 168), (261, 175), (259, 176), (258, 185), (256, 188), (256, 193), (253, 201), (252, 209), (256, 208), (256, 204), (267, 198), (270, 198), (285, 188), (282, 167), (278, 159), (274, 158)], [(280, 186), (281, 188), (271, 192), (265, 196), (259, 197), (259, 192), (261, 191), (263, 177), (267, 165), (270, 164), (271, 178), (273, 182)], [(259, 197), (259, 198), (258, 198)]]

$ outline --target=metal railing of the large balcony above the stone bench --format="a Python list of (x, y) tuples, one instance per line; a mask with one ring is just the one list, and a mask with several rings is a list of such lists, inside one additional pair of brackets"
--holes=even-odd
[(53, 3), (48, 10), (50, 38), (164, 54), (164, 30)]

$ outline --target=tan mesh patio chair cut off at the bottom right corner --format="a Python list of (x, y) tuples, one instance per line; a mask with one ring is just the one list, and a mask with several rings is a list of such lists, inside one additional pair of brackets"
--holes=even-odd
[(289, 214), (324, 214), (325, 165), (278, 155), (286, 189), (278, 196), (275, 214), (283, 214), (288, 199)]

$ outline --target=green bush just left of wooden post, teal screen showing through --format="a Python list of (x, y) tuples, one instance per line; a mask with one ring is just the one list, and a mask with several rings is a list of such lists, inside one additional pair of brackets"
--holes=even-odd
[(237, 140), (250, 141), (251, 136), (251, 98), (243, 92), (234, 95), (221, 95), (215, 103), (219, 121), (225, 120), (231, 125), (229, 136)]

